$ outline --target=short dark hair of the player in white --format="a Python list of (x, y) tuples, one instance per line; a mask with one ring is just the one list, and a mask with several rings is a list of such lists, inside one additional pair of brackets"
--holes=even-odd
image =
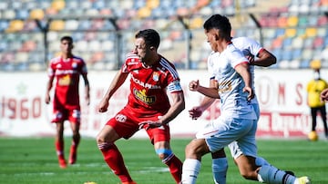
[(224, 15), (211, 15), (203, 24), (203, 28), (207, 31), (210, 29), (218, 29), (221, 36), (231, 37), (231, 23)]

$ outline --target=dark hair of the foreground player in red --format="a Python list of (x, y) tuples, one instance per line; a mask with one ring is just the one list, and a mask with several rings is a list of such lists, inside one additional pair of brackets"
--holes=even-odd
[(160, 37), (159, 33), (153, 29), (145, 29), (139, 31), (136, 38), (143, 38), (147, 46), (154, 46), (155, 48), (159, 48)]

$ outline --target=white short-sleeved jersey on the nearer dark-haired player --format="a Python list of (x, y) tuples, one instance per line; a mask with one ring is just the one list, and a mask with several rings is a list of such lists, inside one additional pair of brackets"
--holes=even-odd
[(221, 116), (231, 118), (256, 120), (257, 116), (247, 101), (248, 92), (242, 92), (245, 87), (241, 75), (234, 68), (248, 60), (233, 44), (220, 54), (212, 53), (208, 60), (211, 78), (219, 83)]

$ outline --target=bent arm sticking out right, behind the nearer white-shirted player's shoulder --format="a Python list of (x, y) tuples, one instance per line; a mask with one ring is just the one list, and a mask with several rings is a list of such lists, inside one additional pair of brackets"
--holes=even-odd
[(268, 67), (277, 63), (277, 58), (266, 49), (262, 49), (260, 53), (258, 53), (257, 57), (258, 58), (256, 59), (248, 58), (251, 65)]

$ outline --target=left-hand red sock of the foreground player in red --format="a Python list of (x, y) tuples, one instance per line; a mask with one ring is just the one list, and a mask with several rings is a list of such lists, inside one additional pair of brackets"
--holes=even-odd
[(132, 181), (128, 174), (128, 169), (125, 167), (123, 157), (115, 144), (102, 145), (100, 150), (109, 168), (113, 170), (122, 182)]

